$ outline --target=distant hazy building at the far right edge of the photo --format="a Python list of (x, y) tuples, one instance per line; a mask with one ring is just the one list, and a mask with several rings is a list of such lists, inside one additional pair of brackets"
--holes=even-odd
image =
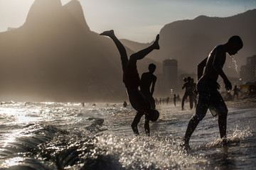
[(240, 68), (240, 79), (243, 81), (256, 80), (256, 55), (246, 58), (246, 65)]

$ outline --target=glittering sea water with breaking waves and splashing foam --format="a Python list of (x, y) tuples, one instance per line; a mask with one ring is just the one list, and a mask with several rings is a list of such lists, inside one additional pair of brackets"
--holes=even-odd
[(121, 103), (17, 103), (0, 106), (0, 169), (255, 169), (256, 108), (229, 108), (228, 141), (208, 112), (180, 147), (194, 110), (157, 106), (151, 137), (130, 127), (135, 111)]

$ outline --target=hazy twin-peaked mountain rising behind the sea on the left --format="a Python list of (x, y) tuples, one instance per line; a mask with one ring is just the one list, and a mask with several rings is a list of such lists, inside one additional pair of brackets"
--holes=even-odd
[(23, 26), (0, 33), (0, 78), (5, 100), (127, 99), (117, 48), (90, 30), (76, 0), (36, 0)]

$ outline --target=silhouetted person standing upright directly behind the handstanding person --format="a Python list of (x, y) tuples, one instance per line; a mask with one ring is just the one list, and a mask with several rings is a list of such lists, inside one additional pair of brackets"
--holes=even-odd
[[(153, 74), (156, 70), (155, 64), (149, 64), (149, 72), (144, 72), (142, 74), (142, 78), (140, 81), (140, 89), (142, 91), (142, 94), (146, 96), (146, 98), (149, 100), (151, 104), (151, 108), (156, 109), (156, 103), (153, 98), (154, 94), (154, 86), (156, 84), (156, 76)], [(151, 86), (151, 89), (150, 89)]]

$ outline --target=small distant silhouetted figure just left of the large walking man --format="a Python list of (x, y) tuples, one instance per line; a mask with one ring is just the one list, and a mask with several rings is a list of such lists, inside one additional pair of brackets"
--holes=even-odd
[(189, 97), (189, 106), (192, 109), (193, 108), (193, 92), (192, 92), (192, 87), (191, 87), (191, 77), (188, 78), (184, 78), (183, 79), (185, 81), (185, 83), (182, 86), (182, 89), (185, 88), (185, 94), (182, 98), (182, 102), (181, 102), (181, 110), (184, 110), (184, 103), (186, 98)]

